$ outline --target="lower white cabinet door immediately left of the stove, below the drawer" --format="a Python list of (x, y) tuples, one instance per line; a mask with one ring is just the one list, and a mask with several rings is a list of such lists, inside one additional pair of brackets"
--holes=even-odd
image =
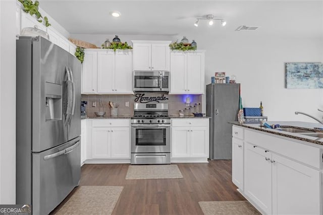
[(130, 128), (111, 128), (111, 157), (130, 158)]

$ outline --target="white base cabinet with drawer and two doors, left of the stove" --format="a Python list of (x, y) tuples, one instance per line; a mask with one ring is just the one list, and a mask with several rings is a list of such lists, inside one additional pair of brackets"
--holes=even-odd
[(129, 119), (92, 120), (91, 145), (91, 159), (127, 158), (130, 162)]

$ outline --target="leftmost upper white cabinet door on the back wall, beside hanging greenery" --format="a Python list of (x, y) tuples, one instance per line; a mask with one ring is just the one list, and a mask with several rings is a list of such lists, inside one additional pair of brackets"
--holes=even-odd
[(85, 51), (82, 67), (82, 93), (96, 93), (97, 51)]

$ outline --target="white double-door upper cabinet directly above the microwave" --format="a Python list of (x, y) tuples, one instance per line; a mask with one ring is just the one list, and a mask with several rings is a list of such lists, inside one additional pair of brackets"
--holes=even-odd
[(171, 41), (133, 40), (133, 70), (170, 70)]

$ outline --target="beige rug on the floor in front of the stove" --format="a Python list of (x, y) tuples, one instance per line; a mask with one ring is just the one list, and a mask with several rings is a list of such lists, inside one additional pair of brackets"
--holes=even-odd
[(126, 179), (176, 179), (183, 178), (177, 165), (130, 165)]

